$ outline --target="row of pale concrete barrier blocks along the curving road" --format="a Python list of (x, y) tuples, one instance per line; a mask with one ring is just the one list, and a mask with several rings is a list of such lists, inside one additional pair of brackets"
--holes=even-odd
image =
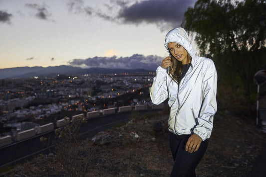
[[(147, 104), (140, 104), (140, 105), (135, 105), (133, 106), (121, 106), (118, 107), (118, 112), (130, 112), (132, 110), (147, 110), (148, 109), (148, 105)], [(163, 109), (164, 108), (164, 104), (159, 104), (159, 105), (155, 105), (152, 104), (151, 109)], [(111, 115), (111, 114), (115, 114), (116, 113), (116, 108), (108, 108), (108, 109), (103, 109), (101, 111), (91, 111), (91, 112), (86, 112), (86, 118), (90, 119), (90, 118), (95, 118), (101, 115)], [(71, 121), (75, 121), (77, 117), (81, 116), (81, 118), (84, 118), (84, 113), (82, 114), (77, 114), (71, 117)], [(68, 123), (70, 123), (70, 118), (69, 117), (65, 117), (64, 119), (60, 119), (56, 121), (56, 128), (62, 127), (67, 125)], [(18, 132), (15, 136), (15, 142), (16, 141), (21, 141), (30, 137), (33, 137), (37, 134), (41, 134), (41, 133), (45, 133), (48, 131), (51, 131), (54, 129), (54, 123), (48, 123), (42, 126), (39, 126), (36, 130), (34, 128), (29, 129), (29, 130), (25, 130), (25, 131), (21, 131)], [(12, 143), (12, 137), (10, 135), (8, 136), (4, 136), (4, 137), (0, 137), (0, 148), (7, 146), (9, 144)]]

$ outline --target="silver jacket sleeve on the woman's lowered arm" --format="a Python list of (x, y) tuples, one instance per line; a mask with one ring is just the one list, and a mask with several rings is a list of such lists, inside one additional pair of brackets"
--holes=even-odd
[(203, 102), (197, 119), (197, 126), (193, 130), (204, 141), (210, 138), (213, 129), (213, 118), (217, 111), (217, 72), (211, 60), (203, 77)]

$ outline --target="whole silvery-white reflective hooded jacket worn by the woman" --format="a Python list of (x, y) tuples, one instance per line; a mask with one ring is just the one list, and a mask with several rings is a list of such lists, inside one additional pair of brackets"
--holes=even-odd
[(165, 47), (169, 42), (182, 45), (192, 57), (189, 70), (180, 84), (177, 84), (169, 76), (169, 70), (159, 66), (150, 88), (150, 96), (154, 104), (169, 98), (170, 132), (177, 135), (197, 134), (204, 141), (211, 136), (217, 111), (217, 72), (211, 59), (197, 55), (184, 32), (183, 28), (170, 31), (165, 37)]

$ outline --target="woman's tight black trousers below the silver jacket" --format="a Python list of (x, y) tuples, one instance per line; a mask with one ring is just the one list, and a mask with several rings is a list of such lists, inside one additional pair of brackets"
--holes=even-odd
[(195, 169), (205, 154), (209, 140), (201, 142), (198, 151), (189, 153), (186, 152), (186, 144), (190, 136), (169, 132), (170, 149), (175, 161), (170, 177), (196, 177)]

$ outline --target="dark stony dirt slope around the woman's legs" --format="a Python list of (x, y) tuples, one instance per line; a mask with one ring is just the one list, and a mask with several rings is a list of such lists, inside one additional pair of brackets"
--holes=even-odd
[[(169, 176), (173, 160), (168, 144), (168, 115), (159, 112), (139, 117), (137, 112), (132, 112), (131, 118), (126, 125), (100, 132), (95, 137), (97, 141), (82, 141), (78, 152), (68, 148), (67, 152), (58, 151), (52, 156), (40, 155), (17, 165), (2, 177), (69, 176), (63, 170), (64, 160), (58, 158), (62, 153), (68, 154), (65, 165), (76, 167), (71, 171), (76, 176), (82, 176), (86, 159), (89, 161), (85, 177)], [(265, 142), (266, 134), (252, 122), (218, 112), (207, 152), (196, 169), (197, 177), (251, 176), (259, 154), (266, 149)]]

